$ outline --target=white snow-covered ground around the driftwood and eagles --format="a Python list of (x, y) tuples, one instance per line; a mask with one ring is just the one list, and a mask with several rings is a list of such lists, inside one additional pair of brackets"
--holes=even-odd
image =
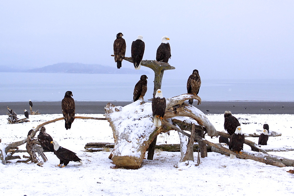
[[(270, 130), (282, 133), (270, 137), (263, 149), (294, 148), (294, 115), (290, 114), (233, 114), (244, 133), (263, 129), (267, 121)], [(21, 118), (23, 115), (19, 115)], [(76, 114), (76, 116), (103, 117), (102, 114)], [(32, 126), (60, 118), (62, 115), (30, 115), (30, 122), (7, 124), (7, 115), (0, 116), (1, 144), (26, 138)], [(223, 131), (223, 114), (209, 114), (208, 119), (218, 131)], [(242, 124), (247, 123), (247, 124)], [(33, 163), (11, 160), (0, 164), (0, 195), (289, 195), (294, 193), (294, 175), (286, 171), (293, 167), (278, 168), (253, 160), (230, 159), (218, 153), (208, 153), (199, 166), (175, 168), (180, 152), (156, 150), (154, 160), (143, 160), (138, 170), (115, 168), (108, 156), (110, 152), (86, 152), (88, 142), (111, 142), (113, 134), (107, 121), (75, 119), (70, 130), (64, 121), (45, 126), (46, 132), (60, 146), (77, 153), (83, 164), (70, 162), (64, 168), (55, 167), (59, 159), (46, 153), (49, 159), (43, 167)], [(38, 134), (38, 133), (37, 133)], [(218, 138), (206, 137), (218, 143)], [(258, 138), (246, 138), (255, 143)], [(160, 134), (158, 144), (179, 143), (178, 133)], [(25, 145), (20, 146), (25, 149)], [(245, 149), (250, 147), (245, 145)], [(269, 152), (294, 159), (294, 151)], [(19, 153), (19, 156), (28, 156)], [(147, 153), (146, 153), (147, 157)], [(197, 153), (194, 153), (195, 159)], [(40, 158), (41, 159), (41, 158)], [(23, 158), (24, 160), (24, 158)]]

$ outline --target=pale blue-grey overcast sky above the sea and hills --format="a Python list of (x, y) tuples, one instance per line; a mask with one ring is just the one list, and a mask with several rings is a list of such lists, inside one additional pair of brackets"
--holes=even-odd
[(122, 32), (126, 56), (143, 36), (144, 60), (170, 38), (176, 70), (164, 77), (198, 69), (202, 80), (292, 79), (293, 10), (294, 1), (0, 1), (0, 65), (116, 67), (110, 55)]

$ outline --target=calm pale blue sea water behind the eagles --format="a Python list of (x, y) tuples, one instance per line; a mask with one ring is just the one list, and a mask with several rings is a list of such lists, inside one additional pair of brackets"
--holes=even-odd
[[(152, 98), (154, 75), (148, 76), (145, 99)], [(0, 73), (0, 102), (61, 101), (66, 91), (76, 101), (130, 101), (140, 75)], [(205, 80), (202, 101), (293, 101), (294, 80)], [(186, 93), (187, 79), (163, 76), (166, 98)]]

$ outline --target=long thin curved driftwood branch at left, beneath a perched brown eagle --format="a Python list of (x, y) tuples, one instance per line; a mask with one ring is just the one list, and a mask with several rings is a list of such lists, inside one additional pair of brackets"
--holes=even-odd
[[(95, 119), (95, 120), (106, 120), (105, 118), (96, 118), (96, 117), (86, 117), (86, 116), (75, 116), (75, 119)], [(2, 164), (6, 164), (7, 160), (12, 160), (12, 159), (20, 159), (20, 156), (12, 156), (14, 153), (16, 153), (18, 150), (18, 146), (21, 146), (23, 144), (25, 144), (26, 142), (30, 141), (30, 138), (34, 138), (36, 133), (40, 130), (40, 128), (42, 126), (45, 126), (46, 124), (50, 124), (59, 120), (64, 120), (64, 118), (58, 118), (58, 119), (54, 119), (51, 121), (47, 121), (44, 122), (40, 125), (38, 125), (31, 133), (31, 135), (29, 135), (26, 139), (21, 140), (21, 141), (17, 141), (17, 142), (12, 142), (12, 143), (0, 143), (0, 160), (2, 162)], [(12, 153), (9, 153), (10, 150), (13, 150)], [(16, 149), (16, 150), (15, 150)]]

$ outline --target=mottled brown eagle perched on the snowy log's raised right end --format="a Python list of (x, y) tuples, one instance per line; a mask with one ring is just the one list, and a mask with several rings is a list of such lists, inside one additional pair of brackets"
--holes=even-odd
[[(198, 70), (193, 70), (193, 73), (189, 76), (187, 81), (187, 92), (198, 95), (201, 85), (201, 79)], [(189, 104), (193, 104), (193, 99), (189, 99)]]

